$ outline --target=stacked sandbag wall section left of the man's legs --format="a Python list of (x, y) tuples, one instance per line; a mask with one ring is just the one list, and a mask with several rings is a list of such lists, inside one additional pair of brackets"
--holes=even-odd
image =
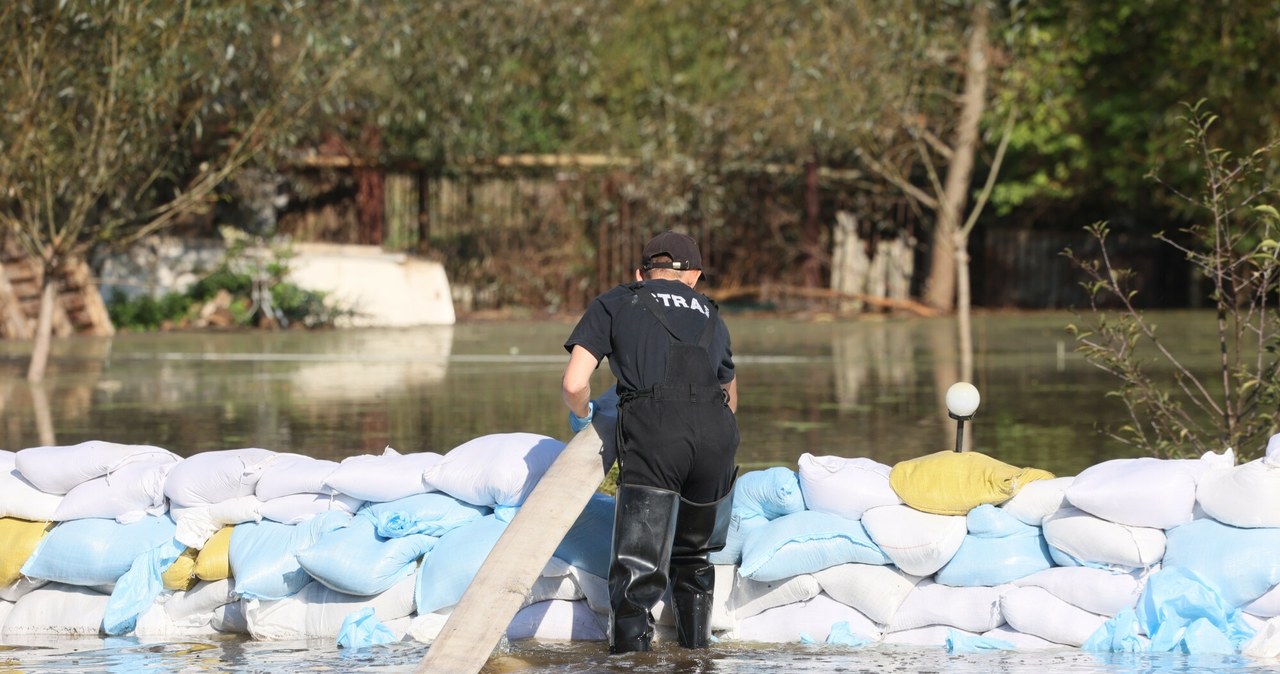
[[(0, 451), (0, 638), (429, 639), (563, 446), (495, 434), (342, 462), (102, 441)], [(607, 610), (612, 515), (593, 499), (531, 600), (586, 606), (586, 586)], [(603, 636), (586, 614), (595, 632), (563, 638)], [(541, 623), (522, 620), (529, 636)]]

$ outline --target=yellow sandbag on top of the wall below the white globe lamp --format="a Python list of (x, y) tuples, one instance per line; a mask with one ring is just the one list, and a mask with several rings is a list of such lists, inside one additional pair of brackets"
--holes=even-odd
[(977, 451), (938, 451), (893, 466), (888, 485), (902, 503), (940, 515), (964, 515), (1012, 499), (1023, 485), (1052, 480), (1039, 468), (1018, 468)]

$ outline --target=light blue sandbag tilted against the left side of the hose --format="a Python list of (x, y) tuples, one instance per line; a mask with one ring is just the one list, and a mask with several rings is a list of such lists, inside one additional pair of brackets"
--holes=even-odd
[(456, 605), (504, 531), (506, 522), (485, 515), (440, 536), (417, 572), (413, 591), (417, 614)]

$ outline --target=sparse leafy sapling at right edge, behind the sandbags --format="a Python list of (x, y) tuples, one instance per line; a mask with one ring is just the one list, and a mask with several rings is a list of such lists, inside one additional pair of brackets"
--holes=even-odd
[(1157, 457), (1193, 457), (1234, 448), (1252, 458), (1280, 431), (1280, 191), (1267, 175), (1280, 139), (1236, 157), (1210, 142), (1217, 116), (1187, 106), (1185, 147), (1199, 166), (1201, 188), (1176, 193), (1201, 220), (1178, 239), (1156, 238), (1181, 251), (1208, 285), (1216, 307), (1219, 359), (1208, 368), (1176, 353), (1157, 326), (1134, 307), (1130, 272), (1107, 255), (1106, 224), (1087, 228), (1096, 257), (1065, 255), (1088, 276), (1092, 315), (1068, 326), (1078, 350), (1120, 380), (1111, 393), (1129, 423), (1112, 435)]

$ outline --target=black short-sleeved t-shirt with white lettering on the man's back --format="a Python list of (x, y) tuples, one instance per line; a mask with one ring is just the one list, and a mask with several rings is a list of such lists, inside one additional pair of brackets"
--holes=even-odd
[[(609, 370), (618, 379), (618, 393), (643, 391), (660, 384), (667, 371), (667, 348), (672, 339), (667, 330), (649, 315), (631, 292), (637, 284), (618, 285), (596, 297), (564, 341), (564, 349), (581, 345), (598, 361), (609, 359)], [(712, 301), (681, 281), (653, 279), (639, 284), (666, 312), (667, 322), (681, 341), (696, 344), (707, 321)], [(716, 313), (716, 331), (707, 349), (721, 384), (733, 380), (733, 353), (728, 329)]]

